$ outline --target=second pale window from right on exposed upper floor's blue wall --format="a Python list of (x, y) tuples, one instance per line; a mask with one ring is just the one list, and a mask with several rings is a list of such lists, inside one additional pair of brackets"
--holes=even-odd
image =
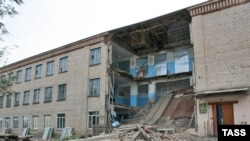
[(166, 75), (167, 74), (167, 64), (166, 64), (166, 53), (155, 55), (155, 66), (154, 72), (155, 76)]

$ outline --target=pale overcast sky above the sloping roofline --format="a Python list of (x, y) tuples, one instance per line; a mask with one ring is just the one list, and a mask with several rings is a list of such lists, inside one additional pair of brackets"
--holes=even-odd
[(7, 64), (111, 29), (145, 21), (207, 0), (24, 0), (4, 18), (10, 32), (0, 47)]

